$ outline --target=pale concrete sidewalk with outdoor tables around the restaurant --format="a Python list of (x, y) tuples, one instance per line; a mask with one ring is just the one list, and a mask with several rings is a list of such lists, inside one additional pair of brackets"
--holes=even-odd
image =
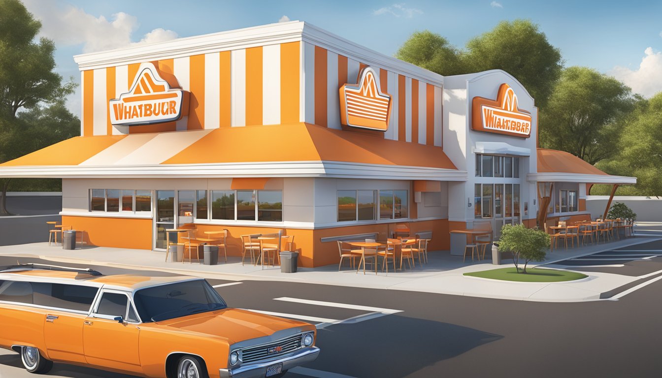
[[(662, 237), (662, 236), (661, 236)], [(584, 256), (602, 250), (611, 250), (643, 242), (656, 240), (650, 237), (629, 238), (607, 244), (555, 250), (547, 255), (544, 263)], [(489, 254), (489, 253), (488, 253)], [(326, 265), (317, 268), (299, 267), (297, 273), (281, 273), (280, 267), (261, 267), (242, 265), (238, 257), (228, 257), (228, 263), (219, 265), (201, 265), (199, 263), (166, 262), (164, 252), (148, 250), (129, 250), (123, 248), (87, 247), (83, 250), (62, 250), (60, 246), (48, 246), (48, 243), (0, 246), (0, 255), (24, 258), (41, 258), (56, 263), (78, 263), (121, 267), (125, 269), (143, 269), (165, 271), (182, 275), (196, 275), (213, 279), (231, 281), (264, 280), (290, 281), (297, 283), (316, 283), (322, 285), (340, 285), (364, 287), (370, 289), (392, 289), (421, 291), (470, 297), (486, 297), (523, 301), (577, 302), (600, 299), (602, 293), (612, 291), (638, 280), (612, 273), (588, 273), (589, 277), (577, 281), (559, 283), (519, 283), (467, 277), (463, 273), (495, 269), (491, 260), (462, 261), (461, 257), (450, 256), (448, 251), (430, 252), (429, 263), (416, 265), (414, 269), (405, 269), (396, 273), (363, 271), (356, 273), (349, 267), (338, 271), (338, 265)], [(486, 258), (489, 259), (488, 256)], [(512, 263), (498, 267), (512, 267)], [(536, 264), (530, 264), (535, 266)], [(392, 265), (391, 265), (392, 266)]]

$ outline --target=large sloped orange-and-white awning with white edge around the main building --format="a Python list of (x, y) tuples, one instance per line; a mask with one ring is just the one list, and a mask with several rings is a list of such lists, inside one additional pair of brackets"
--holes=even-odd
[(304, 122), (75, 137), (0, 164), (0, 177), (131, 175), (372, 176), (446, 181), (467, 177), (441, 147)]

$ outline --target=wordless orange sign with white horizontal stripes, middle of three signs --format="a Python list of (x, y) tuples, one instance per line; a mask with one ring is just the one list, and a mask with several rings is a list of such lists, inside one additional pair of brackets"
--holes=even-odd
[(391, 95), (381, 91), (375, 71), (365, 67), (356, 85), (340, 87), (340, 122), (346, 126), (386, 131), (391, 117)]

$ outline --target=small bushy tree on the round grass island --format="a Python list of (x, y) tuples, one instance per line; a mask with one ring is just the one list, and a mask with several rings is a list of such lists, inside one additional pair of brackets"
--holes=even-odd
[(524, 260), (521, 273), (526, 274), (526, 265), (530, 261), (543, 261), (549, 248), (549, 235), (534, 228), (527, 228), (524, 224), (513, 226), (506, 224), (501, 228), (501, 237), (498, 242), (499, 252), (512, 253), (512, 263), (520, 273), (520, 258)]

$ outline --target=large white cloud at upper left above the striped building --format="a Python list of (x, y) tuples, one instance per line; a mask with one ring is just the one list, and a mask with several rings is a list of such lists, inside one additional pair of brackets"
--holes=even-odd
[(139, 42), (132, 42), (132, 34), (139, 23), (136, 17), (128, 13), (116, 13), (109, 20), (104, 16), (94, 17), (71, 5), (60, 7), (55, 2), (40, 0), (23, 0), (23, 3), (42, 22), (41, 35), (51, 38), (60, 46), (83, 44), (83, 52), (177, 38), (177, 33), (172, 30), (156, 28), (142, 36)]

